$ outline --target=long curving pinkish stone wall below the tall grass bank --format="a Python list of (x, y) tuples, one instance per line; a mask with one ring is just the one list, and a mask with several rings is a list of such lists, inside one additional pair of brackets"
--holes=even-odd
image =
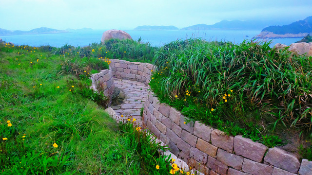
[(312, 175), (312, 161), (282, 149), (243, 138), (227, 136), (199, 122), (184, 123), (175, 108), (159, 101), (150, 91), (143, 123), (170, 151), (207, 175)]

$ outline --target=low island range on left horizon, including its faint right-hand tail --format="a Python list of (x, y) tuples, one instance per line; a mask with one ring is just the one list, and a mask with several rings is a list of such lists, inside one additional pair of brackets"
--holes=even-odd
[(82, 32), (82, 31), (92, 31), (91, 28), (82, 28), (82, 29), (66, 29), (66, 30), (57, 30), (47, 27), (40, 27), (30, 31), (10, 31), (5, 29), (0, 29), (0, 35), (33, 35), (33, 34), (60, 34), (60, 33), (69, 33), (69, 32)]

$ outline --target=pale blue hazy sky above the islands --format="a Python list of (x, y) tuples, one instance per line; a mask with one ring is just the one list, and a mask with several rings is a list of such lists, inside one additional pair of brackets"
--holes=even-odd
[(142, 25), (214, 24), (221, 20), (274, 20), (312, 16), (312, 0), (0, 0), (0, 28), (131, 30)]

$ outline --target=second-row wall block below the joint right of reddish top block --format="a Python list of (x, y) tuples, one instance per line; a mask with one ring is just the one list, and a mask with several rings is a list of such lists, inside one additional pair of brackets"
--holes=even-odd
[(235, 168), (236, 170), (242, 169), (242, 165), (244, 161), (243, 157), (236, 156), (222, 149), (218, 149), (218, 153), (216, 154), (216, 159), (230, 167)]

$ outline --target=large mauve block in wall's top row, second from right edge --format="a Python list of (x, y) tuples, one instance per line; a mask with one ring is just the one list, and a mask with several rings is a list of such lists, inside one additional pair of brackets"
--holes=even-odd
[(300, 162), (297, 157), (276, 147), (269, 149), (264, 157), (264, 161), (292, 173), (297, 173), (300, 168)]

